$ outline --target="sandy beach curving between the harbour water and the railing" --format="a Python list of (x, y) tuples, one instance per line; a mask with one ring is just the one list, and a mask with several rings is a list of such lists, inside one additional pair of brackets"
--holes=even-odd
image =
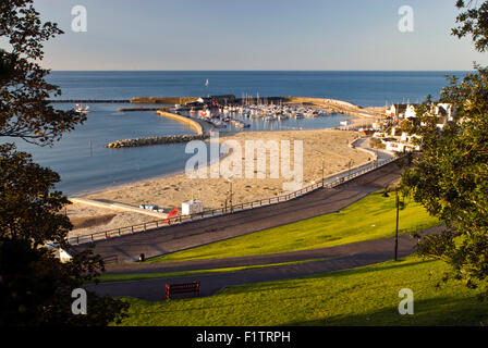
[[(365, 121), (369, 120), (357, 120), (356, 122)], [(368, 162), (371, 159), (369, 153), (349, 146), (357, 137), (357, 132), (334, 129), (242, 132), (236, 134), (220, 133), (220, 142), (230, 139), (236, 140), (243, 148), (242, 156), (244, 157), (246, 140), (290, 140), (293, 163), (293, 141), (302, 140), (303, 186), (306, 186), (320, 181), (322, 163), (324, 174), (328, 176), (346, 170), (350, 165), (356, 166)], [(290, 182), (290, 179), (285, 179), (281, 175), (280, 178), (270, 178), (269, 152), (267, 154), (267, 173), (265, 178), (242, 177), (232, 179), (232, 201), (234, 204), (273, 197), (285, 191), (283, 190), (283, 183)], [(234, 154), (229, 154), (227, 159), (232, 156)], [(244, 158), (242, 163), (244, 167)], [(206, 167), (208, 174), (211, 166), (215, 165), (219, 165), (219, 163)], [(221, 208), (224, 206), (225, 199), (230, 198), (229, 190), (230, 183), (224, 177), (191, 178), (186, 173), (181, 173), (110, 187), (82, 198), (122, 202), (135, 207), (142, 203), (154, 203), (164, 209), (174, 207), (180, 209), (182, 202), (198, 199), (204, 202), (205, 208)], [(76, 226), (70, 233), (70, 236), (108, 231), (156, 220), (152, 216), (135, 212), (96, 208), (81, 203), (69, 206), (66, 212)]]

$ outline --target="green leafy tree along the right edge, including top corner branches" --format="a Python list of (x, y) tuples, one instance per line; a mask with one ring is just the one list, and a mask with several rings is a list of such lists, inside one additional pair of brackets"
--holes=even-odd
[[(472, 34), (475, 47), (488, 47), (488, 1), (468, 8), (453, 29), (459, 37)], [(417, 108), (416, 123), (404, 129), (422, 137), (423, 153), (405, 170), (402, 185), (415, 201), (446, 223), (439, 235), (426, 236), (418, 252), (446, 261), (448, 277), (462, 279), (469, 288), (481, 288), (488, 298), (488, 69), (476, 65), (476, 73), (462, 80), (451, 77), (441, 91), (441, 102), (455, 107), (453, 122), (437, 127), (432, 104)]]

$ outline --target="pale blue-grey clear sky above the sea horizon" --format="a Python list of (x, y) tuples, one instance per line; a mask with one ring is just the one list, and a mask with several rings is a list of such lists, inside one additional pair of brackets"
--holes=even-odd
[[(488, 64), (450, 35), (455, 0), (35, 0), (65, 32), (54, 71), (465, 71)], [(86, 32), (72, 9), (86, 9)], [(401, 7), (413, 32), (401, 32)], [(404, 23), (404, 22), (402, 22)]]

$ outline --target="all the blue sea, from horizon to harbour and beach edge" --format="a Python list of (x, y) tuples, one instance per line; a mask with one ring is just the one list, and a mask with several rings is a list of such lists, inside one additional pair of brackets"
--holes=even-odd
[[(345, 100), (362, 107), (420, 102), (439, 97), (447, 76), (459, 78), (468, 72), (58, 72), (48, 82), (60, 86), (60, 100), (127, 100), (133, 97), (237, 98), (314, 97)], [(208, 79), (208, 84), (206, 84)], [(69, 110), (73, 102), (53, 103)], [(89, 103), (87, 121), (52, 147), (15, 140), (17, 149), (61, 175), (56, 189), (77, 196), (106, 187), (151, 179), (184, 171), (193, 153), (184, 144), (141, 148), (107, 149), (118, 139), (194, 133), (174, 120), (154, 111), (120, 112), (127, 103)], [(288, 130), (340, 126), (349, 116), (333, 114), (318, 119), (286, 120), (279, 124), (255, 122), (248, 130)], [(225, 129), (222, 129), (225, 130)], [(5, 140), (5, 139), (4, 139)], [(3, 140), (3, 141), (4, 141)], [(11, 140), (11, 139), (7, 139)]]

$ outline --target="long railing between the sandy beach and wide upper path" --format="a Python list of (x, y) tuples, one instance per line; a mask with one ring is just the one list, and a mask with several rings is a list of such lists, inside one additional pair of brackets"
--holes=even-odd
[(281, 195), (281, 196), (277, 196), (277, 197), (259, 199), (259, 200), (255, 200), (252, 202), (239, 203), (235, 206), (221, 208), (221, 209), (204, 210), (200, 213), (185, 215), (185, 216), (182, 216), (180, 214), (175, 217), (172, 217), (169, 221), (169, 223), (166, 223), (166, 221), (161, 219), (161, 220), (157, 220), (157, 221), (146, 222), (144, 224), (121, 227), (121, 228), (114, 228), (114, 229), (105, 231), (105, 232), (98, 232), (98, 233), (94, 233), (90, 235), (70, 237), (69, 243), (71, 245), (81, 245), (81, 244), (86, 244), (86, 243), (91, 243), (91, 241), (97, 241), (97, 240), (114, 238), (114, 237), (119, 237), (119, 236), (123, 236), (123, 235), (127, 235), (127, 234), (142, 233), (142, 232), (151, 231), (151, 229), (156, 229), (156, 228), (168, 227), (171, 224), (175, 224), (175, 223), (181, 224), (181, 223), (192, 222), (195, 220), (232, 214), (237, 211), (244, 211), (244, 210), (248, 210), (248, 209), (256, 209), (256, 208), (260, 208), (260, 207), (285, 202), (285, 201), (298, 198), (301, 196), (307, 195), (312, 191), (315, 191), (318, 188), (337, 187), (337, 186), (342, 185), (357, 176), (361, 176), (368, 172), (375, 171), (376, 169), (385, 166), (385, 165), (387, 165), (391, 162), (394, 162), (396, 160), (398, 160), (398, 158), (390, 158), (390, 159), (385, 159), (385, 160), (377, 160), (377, 161), (374, 161), (373, 163), (363, 164), (361, 166), (356, 166), (356, 167), (347, 170), (345, 172), (334, 174), (330, 177), (325, 178), (324, 181), (320, 181), (319, 183), (315, 183), (313, 185), (306, 186), (300, 190), (290, 192), (288, 195)]

